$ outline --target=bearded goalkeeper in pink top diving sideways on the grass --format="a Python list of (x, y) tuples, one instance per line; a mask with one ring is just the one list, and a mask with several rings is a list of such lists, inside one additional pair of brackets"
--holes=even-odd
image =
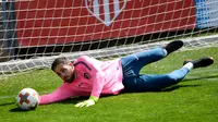
[(141, 69), (180, 49), (183, 41), (174, 40), (165, 47), (142, 51), (111, 61), (98, 61), (81, 56), (71, 62), (57, 58), (51, 70), (63, 80), (53, 93), (39, 97), (39, 105), (61, 101), (73, 96), (88, 96), (75, 107), (95, 105), (100, 96), (118, 95), (123, 91), (155, 91), (178, 84), (192, 70), (214, 63), (213, 58), (184, 61), (181, 69), (169, 74), (140, 74)]

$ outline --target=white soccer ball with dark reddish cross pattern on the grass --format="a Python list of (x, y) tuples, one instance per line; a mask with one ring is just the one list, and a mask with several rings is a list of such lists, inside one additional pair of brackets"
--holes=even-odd
[(39, 95), (33, 88), (24, 88), (16, 96), (16, 103), (23, 110), (34, 110), (39, 103)]

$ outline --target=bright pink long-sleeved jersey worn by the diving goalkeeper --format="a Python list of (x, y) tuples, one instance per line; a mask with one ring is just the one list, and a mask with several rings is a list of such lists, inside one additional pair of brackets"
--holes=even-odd
[(117, 95), (124, 88), (122, 84), (122, 66), (120, 59), (98, 61), (87, 56), (74, 61), (76, 80), (63, 83), (56, 91), (39, 96), (39, 103), (46, 105), (73, 96)]

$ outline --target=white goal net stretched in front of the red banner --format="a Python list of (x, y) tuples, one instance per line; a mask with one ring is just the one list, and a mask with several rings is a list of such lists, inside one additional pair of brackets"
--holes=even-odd
[(57, 57), (123, 56), (174, 39), (217, 46), (217, 0), (1, 0), (0, 75)]

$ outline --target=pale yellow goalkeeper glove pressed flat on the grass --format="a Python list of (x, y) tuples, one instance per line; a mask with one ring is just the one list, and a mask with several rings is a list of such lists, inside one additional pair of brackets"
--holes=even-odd
[(88, 100), (78, 102), (75, 105), (75, 107), (81, 108), (81, 107), (90, 107), (94, 106), (98, 101), (98, 98), (95, 96), (90, 96)]

